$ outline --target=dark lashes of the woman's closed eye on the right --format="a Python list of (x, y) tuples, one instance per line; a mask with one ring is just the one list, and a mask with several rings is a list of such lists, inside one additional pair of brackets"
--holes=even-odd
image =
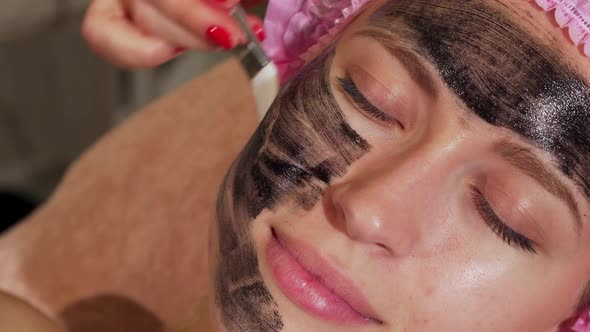
[(483, 220), (504, 242), (530, 253), (537, 253), (535, 243), (508, 227), (494, 212), (494, 209), (484, 195), (475, 187), (471, 188), (471, 198)]

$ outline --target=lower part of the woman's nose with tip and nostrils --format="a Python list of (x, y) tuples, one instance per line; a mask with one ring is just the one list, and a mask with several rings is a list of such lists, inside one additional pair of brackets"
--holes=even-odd
[[(440, 168), (398, 164), (356, 175), (326, 192), (328, 216), (351, 239), (394, 256), (417, 253), (442, 228), (448, 178)], [(424, 163), (419, 163), (424, 165)]]

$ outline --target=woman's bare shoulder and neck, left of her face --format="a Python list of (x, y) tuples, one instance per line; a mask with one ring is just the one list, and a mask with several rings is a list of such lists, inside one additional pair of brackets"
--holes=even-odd
[[(76, 331), (201, 324), (217, 187), (257, 123), (250, 89), (233, 60), (107, 134), (0, 237), (0, 266), (13, 266), (0, 287), (20, 285)], [(122, 324), (136, 325), (108, 328)]]

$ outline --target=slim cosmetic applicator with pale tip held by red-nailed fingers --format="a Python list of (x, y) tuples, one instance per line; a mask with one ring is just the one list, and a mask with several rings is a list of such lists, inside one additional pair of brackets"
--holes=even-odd
[(252, 82), (256, 110), (262, 119), (279, 93), (279, 72), (276, 65), (264, 53), (256, 34), (250, 27), (244, 8), (239, 4), (236, 5), (232, 16), (248, 38), (247, 44), (238, 49), (238, 57)]

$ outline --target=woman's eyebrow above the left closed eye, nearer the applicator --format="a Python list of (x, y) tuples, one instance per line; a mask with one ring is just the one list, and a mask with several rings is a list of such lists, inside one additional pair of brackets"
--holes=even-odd
[(408, 70), (412, 79), (418, 83), (430, 96), (436, 97), (438, 89), (432, 70), (428, 69), (421, 56), (411, 51), (407, 47), (398, 45), (391, 39), (391, 35), (380, 30), (371, 29), (370, 27), (357, 32), (355, 35), (369, 37), (377, 40), (392, 56), (398, 59)]

